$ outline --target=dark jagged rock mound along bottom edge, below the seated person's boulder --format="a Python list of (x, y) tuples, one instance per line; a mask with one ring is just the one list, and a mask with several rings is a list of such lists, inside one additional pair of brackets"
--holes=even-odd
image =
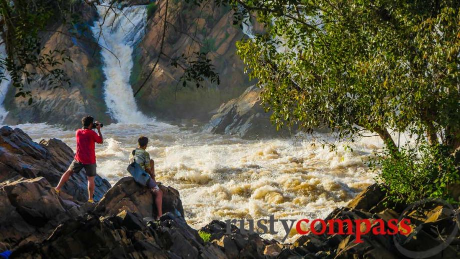
[(144, 222), (128, 211), (69, 220), (42, 243), (19, 247), (11, 258), (73, 257), (227, 258), (215, 245), (205, 244), (182, 217), (166, 213), (160, 221)]

